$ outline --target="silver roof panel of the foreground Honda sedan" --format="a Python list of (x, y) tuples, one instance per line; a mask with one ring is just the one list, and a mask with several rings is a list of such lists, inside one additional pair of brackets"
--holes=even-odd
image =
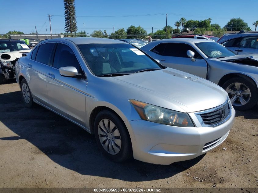
[(76, 37), (76, 38), (55, 38), (45, 40), (44, 42), (51, 42), (51, 41), (62, 41), (62, 40), (69, 40), (72, 41), (74, 44), (128, 44), (123, 41), (113, 40), (108, 38), (86, 38), (86, 37)]

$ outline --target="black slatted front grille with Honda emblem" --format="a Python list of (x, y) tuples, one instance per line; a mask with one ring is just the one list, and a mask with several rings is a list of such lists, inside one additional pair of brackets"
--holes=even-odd
[(220, 108), (216, 108), (214, 111), (200, 114), (203, 123), (205, 125), (215, 125), (222, 122), (230, 114), (230, 106), (227, 102)]

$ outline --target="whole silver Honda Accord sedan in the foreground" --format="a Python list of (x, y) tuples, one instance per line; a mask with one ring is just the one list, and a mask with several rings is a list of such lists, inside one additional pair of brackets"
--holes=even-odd
[(45, 40), (19, 59), (16, 81), (27, 107), (38, 103), (94, 134), (116, 162), (193, 159), (218, 147), (234, 122), (218, 85), (118, 40)]

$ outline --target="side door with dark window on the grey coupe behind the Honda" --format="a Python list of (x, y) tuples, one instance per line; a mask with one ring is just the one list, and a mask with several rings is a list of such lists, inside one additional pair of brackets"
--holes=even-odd
[[(194, 62), (187, 56), (187, 50), (194, 52)], [(160, 63), (164, 66), (206, 79), (207, 63), (191, 45), (183, 43), (167, 43), (162, 56), (160, 57)]]

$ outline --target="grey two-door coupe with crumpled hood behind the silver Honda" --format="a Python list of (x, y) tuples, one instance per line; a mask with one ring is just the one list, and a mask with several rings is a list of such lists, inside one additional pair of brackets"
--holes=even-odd
[(164, 66), (218, 84), (227, 91), (237, 110), (247, 110), (257, 104), (258, 55), (236, 55), (214, 41), (189, 38), (155, 41), (141, 50)]

